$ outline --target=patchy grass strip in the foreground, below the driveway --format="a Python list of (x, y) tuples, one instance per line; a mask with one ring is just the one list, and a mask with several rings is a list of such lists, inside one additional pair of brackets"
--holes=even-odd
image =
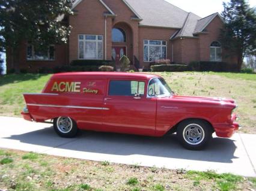
[[(31, 153), (1, 150), (0, 160), (11, 153), (13, 161), (0, 165), (0, 190), (51, 191), (163, 191), (163, 190), (253, 190), (256, 178), (213, 171), (197, 172), (184, 169), (133, 168), (81, 159), (41, 154), (32, 160), (22, 159)], [(44, 165), (40, 165), (45, 162)], [(111, 167), (113, 172), (105, 169)], [(156, 168), (156, 167), (154, 167)], [(127, 178), (129, 177), (129, 178)]]

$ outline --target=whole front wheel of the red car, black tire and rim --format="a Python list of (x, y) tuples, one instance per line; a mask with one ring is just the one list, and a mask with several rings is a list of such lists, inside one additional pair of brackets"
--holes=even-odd
[(212, 126), (204, 120), (185, 120), (178, 125), (177, 137), (188, 150), (202, 150), (212, 138)]

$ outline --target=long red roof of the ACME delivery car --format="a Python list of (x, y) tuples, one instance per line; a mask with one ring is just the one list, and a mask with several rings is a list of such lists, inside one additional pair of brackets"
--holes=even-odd
[(102, 77), (102, 78), (140, 78), (150, 79), (153, 77), (160, 77), (154, 74), (144, 74), (138, 72), (65, 72), (53, 74), (53, 78), (59, 77)]

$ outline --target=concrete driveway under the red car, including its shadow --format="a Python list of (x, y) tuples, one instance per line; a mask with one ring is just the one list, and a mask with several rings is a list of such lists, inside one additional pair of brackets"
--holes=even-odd
[(215, 170), (256, 177), (256, 135), (213, 138), (203, 151), (185, 150), (175, 135), (162, 138), (84, 131), (60, 138), (52, 125), (0, 117), (0, 147), (56, 156), (168, 169)]

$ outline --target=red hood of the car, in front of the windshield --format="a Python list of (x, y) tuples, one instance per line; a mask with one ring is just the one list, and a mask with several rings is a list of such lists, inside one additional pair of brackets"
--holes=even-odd
[(173, 99), (183, 99), (187, 101), (209, 101), (209, 102), (226, 102), (234, 104), (235, 101), (233, 99), (227, 99), (227, 98), (213, 98), (213, 97), (202, 97), (202, 96), (178, 96), (174, 95), (172, 97)]

